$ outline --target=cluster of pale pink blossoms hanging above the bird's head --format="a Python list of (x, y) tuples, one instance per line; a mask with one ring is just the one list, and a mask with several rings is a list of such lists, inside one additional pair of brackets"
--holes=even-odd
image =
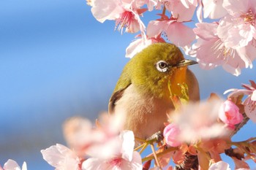
[[(252, 68), (255, 60), (256, 0), (88, 0), (88, 4), (99, 22), (115, 20), (121, 33), (124, 28), (138, 33), (127, 47), (128, 58), (155, 42), (169, 41), (196, 57), (203, 68), (222, 66), (236, 76), (241, 69)], [(143, 14), (154, 9), (162, 13), (146, 26)]]

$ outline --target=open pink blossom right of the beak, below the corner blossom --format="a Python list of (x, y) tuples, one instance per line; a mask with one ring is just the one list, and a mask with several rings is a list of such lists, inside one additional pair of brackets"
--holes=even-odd
[(197, 57), (201, 67), (212, 69), (222, 66), (227, 72), (238, 76), (242, 68), (249, 66), (251, 62), (244, 47), (237, 49), (227, 47), (219, 38), (218, 23), (197, 23), (196, 26), (194, 31), (198, 38), (192, 45), (190, 55)]

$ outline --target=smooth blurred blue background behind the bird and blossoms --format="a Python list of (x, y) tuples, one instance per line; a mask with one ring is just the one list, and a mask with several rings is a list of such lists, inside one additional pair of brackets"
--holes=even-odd
[[(144, 19), (154, 18), (149, 14)], [(86, 1), (0, 1), (1, 165), (12, 158), (20, 166), (26, 161), (30, 170), (54, 169), (40, 150), (65, 144), (64, 120), (75, 115), (94, 120), (108, 110), (129, 61), (125, 49), (135, 36), (121, 35), (114, 26), (113, 21), (97, 22)], [(256, 80), (256, 66), (239, 77), (222, 68), (190, 68), (202, 99), (212, 92), (225, 98), (225, 90)], [(234, 140), (255, 136), (254, 129), (249, 122)]]

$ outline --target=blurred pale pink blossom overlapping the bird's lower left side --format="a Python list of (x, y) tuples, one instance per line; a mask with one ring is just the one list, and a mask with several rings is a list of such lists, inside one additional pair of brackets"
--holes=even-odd
[(100, 155), (108, 158), (108, 155), (116, 152), (116, 136), (122, 131), (124, 118), (123, 113), (104, 113), (97, 120), (97, 128), (93, 128), (89, 120), (74, 117), (64, 123), (64, 136), (79, 156)]

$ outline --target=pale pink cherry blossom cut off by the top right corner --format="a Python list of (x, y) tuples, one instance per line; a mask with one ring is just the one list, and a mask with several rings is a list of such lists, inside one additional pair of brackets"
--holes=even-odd
[(229, 15), (219, 21), (218, 35), (227, 47), (244, 47), (256, 38), (255, 0), (226, 0), (223, 7)]

